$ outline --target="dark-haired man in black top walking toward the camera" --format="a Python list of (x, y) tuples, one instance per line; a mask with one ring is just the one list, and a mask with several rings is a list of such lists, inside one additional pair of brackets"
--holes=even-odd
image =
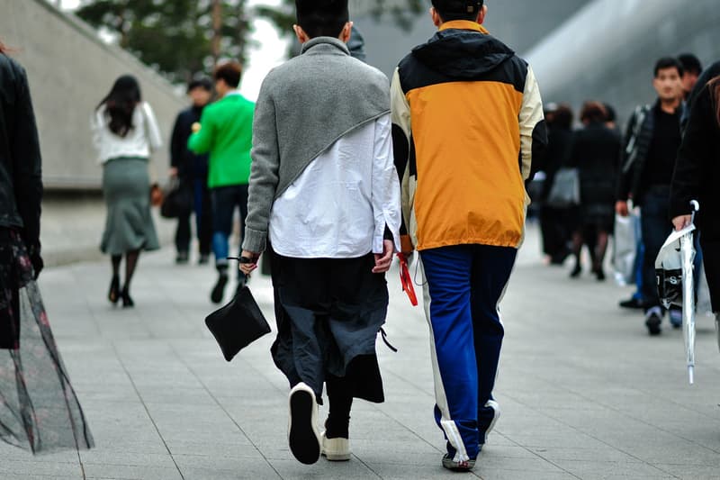
[[(628, 123), (616, 211), (626, 216), (629, 198), (640, 206), (645, 325), (651, 335), (658, 335), (664, 312), (655, 282), (655, 258), (671, 232), (670, 185), (681, 140), (683, 71), (677, 59), (663, 58), (653, 72), (658, 99), (653, 106), (638, 107)], [(674, 327), (679, 321), (671, 317)]]

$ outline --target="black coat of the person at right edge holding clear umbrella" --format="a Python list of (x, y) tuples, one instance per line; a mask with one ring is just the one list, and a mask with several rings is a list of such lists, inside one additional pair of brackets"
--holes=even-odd
[(698, 94), (690, 112), (671, 186), (671, 218), (690, 213), (698, 200), (697, 224), (704, 240), (720, 240), (720, 127), (716, 104), (708, 86)]

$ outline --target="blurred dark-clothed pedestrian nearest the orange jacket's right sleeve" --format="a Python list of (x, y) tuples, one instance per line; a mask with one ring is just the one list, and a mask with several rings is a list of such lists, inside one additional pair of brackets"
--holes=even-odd
[(548, 204), (547, 197), (553, 188), (557, 171), (566, 166), (572, 144), (572, 108), (559, 104), (547, 112), (547, 149), (540, 161), (545, 172), (545, 182), (540, 195), (540, 229), (543, 235), (543, 251), (551, 265), (563, 265), (571, 253), (571, 223), (568, 208)]

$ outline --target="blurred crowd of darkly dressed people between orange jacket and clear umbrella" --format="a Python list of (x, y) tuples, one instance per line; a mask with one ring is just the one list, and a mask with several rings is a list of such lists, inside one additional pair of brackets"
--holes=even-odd
[[(651, 335), (662, 331), (666, 312), (658, 298), (655, 258), (673, 228), (671, 185), (683, 131), (698, 91), (716, 77), (717, 66), (703, 74), (690, 53), (658, 59), (652, 79), (657, 98), (636, 106), (625, 129), (615, 108), (599, 100), (582, 104), (579, 122), (570, 104), (545, 104), (549, 143), (528, 190), (537, 204), (546, 262), (563, 266), (572, 258), (570, 276), (577, 279), (588, 258), (599, 281), (606, 280), (611, 265), (618, 283), (636, 286), (619, 306), (643, 310)], [(612, 262), (606, 262), (614, 235)], [(699, 279), (703, 257), (696, 240)], [(620, 257), (628, 250), (631, 261), (624, 265)], [(681, 327), (680, 311), (671, 309), (668, 317), (674, 328)]]

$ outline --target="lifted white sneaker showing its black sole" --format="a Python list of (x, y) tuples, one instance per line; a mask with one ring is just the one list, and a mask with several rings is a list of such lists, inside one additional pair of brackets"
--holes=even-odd
[(290, 391), (289, 403), (287, 439), (290, 451), (299, 462), (312, 465), (320, 459), (321, 448), (315, 392), (301, 382)]

